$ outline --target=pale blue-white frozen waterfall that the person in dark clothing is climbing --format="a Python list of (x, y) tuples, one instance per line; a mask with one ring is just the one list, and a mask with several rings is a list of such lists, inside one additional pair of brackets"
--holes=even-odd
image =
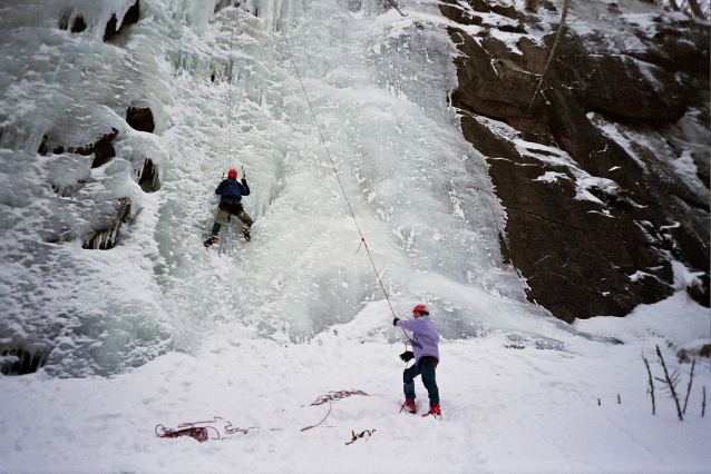
[[(331, 158), (398, 315), (426, 303), (449, 339), (555, 338), (501, 260), (505, 213), (448, 107), (456, 50), (437, 2), (402, 17), (378, 0), (143, 0), (104, 41), (133, 3), (0, 7), (0, 349), (81, 376), (214, 330), (395, 340)], [(149, 107), (155, 132), (129, 127), (129, 107)], [(111, 130), (116, 155), (92, 168), (76, 149)], [(146, 159), (155, 192), (137, 184)], [(233, 219), (206, 251), (214, 189), (242, 167), (253, 240)], [(82, 248), (120, 199), (117, 245)]]

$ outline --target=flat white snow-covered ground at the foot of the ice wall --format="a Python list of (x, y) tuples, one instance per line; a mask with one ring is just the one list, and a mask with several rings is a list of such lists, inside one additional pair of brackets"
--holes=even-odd
[[(0, 472), (709, 472), (711, 413), (701, 417), (709, 359), (698, 359), (683, 422), (658, 381), (652, 415), (642, 361), (662, 377), (660, 346), (670, 371), (681, 371), (683, 405), (690, 364), (680, 366), (675, 348), (698, 344), (709, 326), (708, 309), (683, 293), (629, 319), (576, 325), (597, 340), (569, 334), (557, 349), (503, 334), (444, 340), (441, 421), (399, 413), (403, 345), (359, 337), (388, 323), (380, 305), (308, 344), (254, 338), (231, 324), (194, 354), (171, 353), (111, 378), (0, 378)], [(416, 389), (425, 413), (419, 378)], [(311, 406), (341, 391), (368, 396)], [(210, 421), (198, 424), (216, 428), (204, 443), (155, 433), (159, 424)], [(247, 431), (227, 434), (227, 423)]]

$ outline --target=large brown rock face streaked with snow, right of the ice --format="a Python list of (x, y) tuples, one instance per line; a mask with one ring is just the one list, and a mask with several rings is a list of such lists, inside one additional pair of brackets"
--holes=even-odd
[(708, 26), (660, 12), (614, 38), (567, 29), (539, 87), (555, 37), (542, 17), (483, 0), (441, 11), (480, 27), (450, 28), (461, 53), (451, 102), (488, 157), (505, 255), (529, 298), (571, 323), (669, 296), (672, 259), (708, 282)]

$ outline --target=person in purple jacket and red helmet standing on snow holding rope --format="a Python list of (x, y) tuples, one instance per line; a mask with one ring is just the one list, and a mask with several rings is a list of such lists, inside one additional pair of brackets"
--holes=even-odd
[(439, 335), (429, 317), (429, 309), (425, 305), (417, 305), (412, 309), (413, 319), (403, 320), (395, 318), (392, 324), (412, 332), (412, 352), (400, 354), (405, 362), (415, 358), (415, 365), (402, 373), (405, 383), (405, 403), (410, 413), (417, 413), (415, 405), (415, 377), (422, 375), (422, 384), (429, 394), (429, 413), (427, 415), (441, 416), (439, 408), (439, 389), (437, 388), (437, 364), (439, 364)]

